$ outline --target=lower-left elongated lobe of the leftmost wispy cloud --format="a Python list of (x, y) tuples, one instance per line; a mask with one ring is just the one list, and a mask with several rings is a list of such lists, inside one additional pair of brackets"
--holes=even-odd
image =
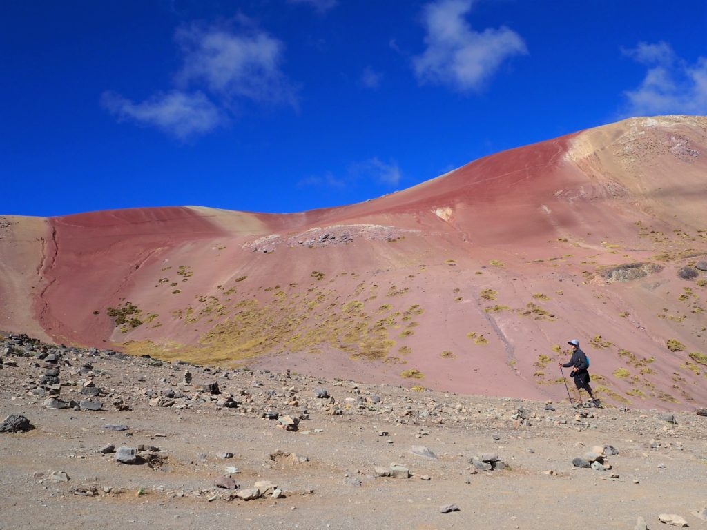
[(118, 121), (153, 125), (180, 140), (205, 134), (223, 122), (216, 105), (201, 92), (158, 93), (140, 103), (105, 92), (101, 102)]

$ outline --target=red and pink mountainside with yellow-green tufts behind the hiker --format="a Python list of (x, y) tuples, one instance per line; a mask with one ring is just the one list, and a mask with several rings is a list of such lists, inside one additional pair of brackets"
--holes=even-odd
[(626, 119), (293, 214), (0, 216), (0, 329), (197, 363), (707, 402), (707, 117)]

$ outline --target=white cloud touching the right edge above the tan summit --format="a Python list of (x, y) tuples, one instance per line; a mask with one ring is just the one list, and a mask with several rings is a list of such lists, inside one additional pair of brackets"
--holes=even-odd
[(624, 92), (627, 116), (707, 114), (706, 57), (689, 64), (662, 41), (621, 51), (646, 66), (641, 84)]

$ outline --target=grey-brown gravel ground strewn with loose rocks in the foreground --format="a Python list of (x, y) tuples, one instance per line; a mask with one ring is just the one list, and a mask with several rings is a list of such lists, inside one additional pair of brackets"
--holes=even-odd
[(26, 336), (1, 338), (0, 356), (1, 530), (707, 527), (701, 408), (573, 408)]

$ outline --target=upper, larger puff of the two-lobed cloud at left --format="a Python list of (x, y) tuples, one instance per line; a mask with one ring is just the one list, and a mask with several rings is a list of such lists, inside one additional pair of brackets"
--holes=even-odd
[(211, 93), (233, 100), (296, 105), (291, 83), (280, 69), (284, 45), (264, 32), (235, 34), (192, 25), (177, 30), (184, 65), (177, 81), (203, 83)]

